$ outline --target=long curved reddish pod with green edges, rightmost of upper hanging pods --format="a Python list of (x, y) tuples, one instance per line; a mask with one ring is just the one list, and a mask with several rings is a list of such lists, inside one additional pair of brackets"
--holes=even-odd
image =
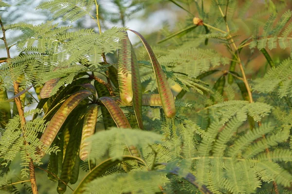
[(173, 116), (175, 116), (176, 114), (176, 109), (175, 109), (175, 104), (174, 104), (174, 98), (171, 92), (171, 89), (169, 87), (169, 84), (166, 80), (166, 77), (164, 75), (164, 72), (162, 70), (161, 65), (158, 63), (153, 50), (150, 48), (149, 44), (147, 43), (146, 39), (139, 33), (133, 30), (129, 30), (131, 32), (134, 32), (135, 34), (137, 34), (139, 36), (139, 38), (141, 39), (142, 43), (144, 44), (148, 55), (150, 57), (154, 72), (155, 72), (155, 78), (157, 81), (157, 85), (158, 85), (158, 92), (159, 95), (161, 97), (161, 101), (162, 101), (162, 106), (164, 109), (164, 113), (168, 118), (171, 118)]

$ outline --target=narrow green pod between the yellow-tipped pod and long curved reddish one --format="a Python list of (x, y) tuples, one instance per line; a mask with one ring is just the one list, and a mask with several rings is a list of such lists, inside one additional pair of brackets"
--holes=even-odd
[(131, 45), (131, 69), (132, 69), (132, 89), (133, 89), (133, 107), (135, 116), (140, 129), (143, 129), (142, 120), (142, 85), (139, 74), (137, 57), (133, 46)]

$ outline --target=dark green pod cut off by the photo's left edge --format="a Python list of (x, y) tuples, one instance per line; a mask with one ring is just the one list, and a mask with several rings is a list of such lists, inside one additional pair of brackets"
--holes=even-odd
[(0, 127), (5, 128), (9, 119), (11, 119), (10, 104), (7, 100), (7, 92), (0, 90)]

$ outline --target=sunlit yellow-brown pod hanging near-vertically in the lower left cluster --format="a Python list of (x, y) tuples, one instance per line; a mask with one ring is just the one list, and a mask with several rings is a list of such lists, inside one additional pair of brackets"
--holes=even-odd
[(98, 105), (91, 104), (87, 109), (87, 113), (85, 114), (80, 143), (79, 157), (83, 161), (85, 161), (89, 155), (90, 142), (87, 142), (86, 139), (94, 133), (97, 115)]

